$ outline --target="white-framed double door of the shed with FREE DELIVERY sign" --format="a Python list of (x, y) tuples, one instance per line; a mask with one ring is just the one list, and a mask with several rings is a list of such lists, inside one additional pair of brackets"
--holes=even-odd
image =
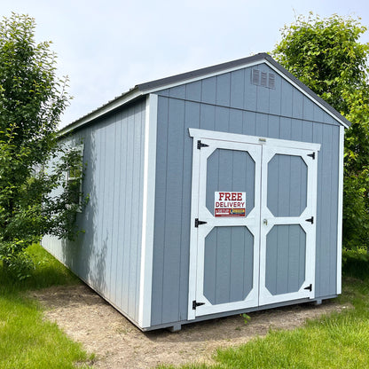
[(190, 134), (188, 318), (313, 298), (319, 145)]

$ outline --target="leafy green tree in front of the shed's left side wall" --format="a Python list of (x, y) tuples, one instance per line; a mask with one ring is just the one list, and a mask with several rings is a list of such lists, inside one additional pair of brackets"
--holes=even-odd
[(27, 15), (0, 23), (0, 260), (20, 278), (32, 265), (24, 253), (30, 244), (47, 233), (75, 234), (78, 205), (70, 191), (52, 193), (68, 190), (65, 174), (81, 161), (56, 133), (69, 101), (67, 79), (56, 76), (51, 43), (35, 43), (34, 34)]

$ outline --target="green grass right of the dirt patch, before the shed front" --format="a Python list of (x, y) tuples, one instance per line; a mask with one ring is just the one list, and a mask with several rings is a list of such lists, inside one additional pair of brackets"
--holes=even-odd
[[(271, 331), (232, 349), (220, 349), (215, 365), (183, 365), (182, 369), (369, 368), (369, 265), (362, 279), (345, 277), (342, 303), (354, 309), (308, 321), (293, 331)], [(174, 368), (159, 366), (158, 368)]]

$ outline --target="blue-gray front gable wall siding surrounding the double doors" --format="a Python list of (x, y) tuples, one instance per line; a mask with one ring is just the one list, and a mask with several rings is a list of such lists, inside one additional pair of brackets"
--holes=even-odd
[[(262, 64), (261, 71), (272, 72)], [(152, 325), (186, 319), (192, 178), (188, 128), (321, 144), (318, 153), (316, 296), (336, 294), (339, 123), (276, 74), (251, 68), (158, 93)], [(174, 142), (173, 142), (174, 140)]]

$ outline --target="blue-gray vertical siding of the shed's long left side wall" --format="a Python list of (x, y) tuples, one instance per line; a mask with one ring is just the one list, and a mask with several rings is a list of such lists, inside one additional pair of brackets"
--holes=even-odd
[(43, 246), (106, 300), (137, 321), (144, 178), (145, 102), (75, 133), (87, 163), (87, 208), (76, 242), (51, 237)]

